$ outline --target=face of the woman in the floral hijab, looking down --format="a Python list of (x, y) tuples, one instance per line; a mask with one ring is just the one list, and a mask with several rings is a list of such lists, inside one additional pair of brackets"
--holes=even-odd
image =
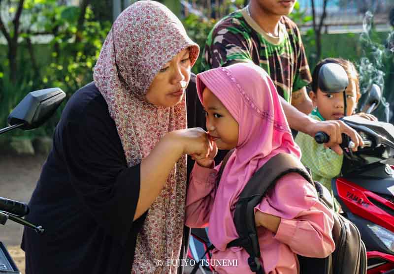
[(172, 107), (181, 102), (190, 81), (190, 70), (189, 49), (185, 49), (159, 70), (146, 92), (146, 100), (162, 107)]

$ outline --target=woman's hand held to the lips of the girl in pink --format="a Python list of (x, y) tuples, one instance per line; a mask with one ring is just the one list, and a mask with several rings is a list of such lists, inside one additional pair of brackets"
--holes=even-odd
[(182, 152), (194, 159), (207, 158), (214, 147), (208, 133), (200, 127), (175, 130), (169, 134), (181, 146)]

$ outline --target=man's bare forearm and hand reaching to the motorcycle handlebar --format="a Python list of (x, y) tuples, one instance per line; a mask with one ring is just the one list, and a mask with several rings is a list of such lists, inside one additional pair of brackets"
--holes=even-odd
[(356, 130), (349, 127), (344, 122), (336, 120), (323, 122), (316, 121), (306, 114), (298, 111), (282, 97), (279, 98), (291, 128), (306, 133), (312, 137), (314, 137), (318, 131), (326, 132), (329, 136), (329, 142), (325, 144), (325, 146), (331, 148), (338, 154), (342, 154), (342, 149), (339, 146), (339, 144), (342, 143), (342, 133), (350, 136), (350, 139), (355, 143), (353, 151), (357, 151), (359, 146), (363, 146), (361, 136), (356, 132)]

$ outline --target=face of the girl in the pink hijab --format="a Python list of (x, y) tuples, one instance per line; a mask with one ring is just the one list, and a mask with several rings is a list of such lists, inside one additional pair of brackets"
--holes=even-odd
[(205, 109), (206, 128), (220, 150), (231, 150), (238, 144), (238, 122), (216, 97), (205, 88), (202, 93)]

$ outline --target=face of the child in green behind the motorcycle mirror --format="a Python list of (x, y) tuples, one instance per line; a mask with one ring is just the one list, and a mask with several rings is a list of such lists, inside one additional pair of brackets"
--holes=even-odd
[[(357, 93), (356, 83), (349, 79), (349, 86), (346, 88), (346, 116), (352, 115), (357, 107), (360, 94)], [(317, 90), (309, 93), (314, 106), (316, 106), (325, 120), (338, 120), (344, 116), (343, 92), (329, 94)]]

